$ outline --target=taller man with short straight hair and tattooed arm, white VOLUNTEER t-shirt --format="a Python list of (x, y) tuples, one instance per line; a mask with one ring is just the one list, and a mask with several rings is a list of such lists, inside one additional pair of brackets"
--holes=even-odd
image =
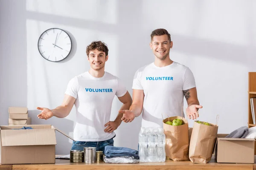
[[(173, 42), (163, 28), (151, 33), (150, 48), (155, 60), (140, 68), (133, 81), (133, 103), (129, 110), (121, 110), (124, 120), (133, 121), (142, 114), (142, 127), (163, 127), (163, 116), (181, 116), (186, 98), (189, 119), (198, 117), (199, 105), (192, 71), (170, 59)], [(127, 121), (125, 121), (127, 122)]]

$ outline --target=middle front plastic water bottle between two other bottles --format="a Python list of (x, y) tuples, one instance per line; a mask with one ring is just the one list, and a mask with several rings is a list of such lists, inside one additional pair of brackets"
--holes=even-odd
[(150, 128), (148, 137), (148, 162), (157, 161), (157, 134), (154, 132), (153, 128)]

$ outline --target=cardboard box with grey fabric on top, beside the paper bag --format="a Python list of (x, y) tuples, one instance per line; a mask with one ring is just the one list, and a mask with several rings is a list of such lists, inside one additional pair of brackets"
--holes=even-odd
[(255, 139), (225, 138), (217, 134), (215, 159), (218, 163), (254, 163)]

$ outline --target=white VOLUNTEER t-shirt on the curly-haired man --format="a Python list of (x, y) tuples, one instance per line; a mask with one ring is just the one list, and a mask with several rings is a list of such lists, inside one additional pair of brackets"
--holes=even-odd
[(65, 94), (76, 98), (76, 126), (74, 139), (99, 142), (113, 138), (115, 133), (105, 133), (109, 122), (113, 98), (124, 96), (125, 85), (116, 76), (105, 72), (96, 78), (87, 71), (70, 80)]

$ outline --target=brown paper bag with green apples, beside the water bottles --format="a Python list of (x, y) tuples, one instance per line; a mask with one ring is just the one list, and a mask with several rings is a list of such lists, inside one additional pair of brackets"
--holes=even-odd
[[(165, 122), (182, 119), (183, 125), (172, 126)], [(166, 135), (166, 156), (173, 161), (189, 160), (189, 126), (188, 121), (181, 116), (169, 117), (163, 120), (163, 130)]]

